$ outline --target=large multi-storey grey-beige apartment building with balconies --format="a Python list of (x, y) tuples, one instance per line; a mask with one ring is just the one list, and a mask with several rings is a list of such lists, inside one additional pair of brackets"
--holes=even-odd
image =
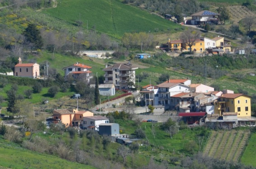
[[(104, 84), (114, 84), (117, 89), (134, 88), (136, 81), (135, 69), (138, 69), (138, 67), (133, 66), (131, 63), (115, 63), (110, 67), (106, 65), (105, 69), (103, 69), (105, 71)], [(133, 82), (133, 86), (128, 86), (129, 80)]]

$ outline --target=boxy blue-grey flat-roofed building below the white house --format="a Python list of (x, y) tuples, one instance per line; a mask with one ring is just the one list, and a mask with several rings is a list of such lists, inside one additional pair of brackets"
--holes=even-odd
[(99, 124), (100, 135), (119, 135), (119, 125), (117, 123), (102, 123)]

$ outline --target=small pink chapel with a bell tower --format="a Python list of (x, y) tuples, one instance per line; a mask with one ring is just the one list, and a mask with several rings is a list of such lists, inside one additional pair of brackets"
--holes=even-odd
[(39, 64), (22, 63), (21, 58), (19, 58), (19, 63), (14, 66), (14, 76), (39, 78), (40, 77)]

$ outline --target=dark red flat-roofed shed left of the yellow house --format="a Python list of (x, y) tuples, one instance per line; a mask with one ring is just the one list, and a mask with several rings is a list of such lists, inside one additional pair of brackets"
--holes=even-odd
[(207, 115), (206, 112), (191, 112), (191, 113), (179, 113), (182, 116), (184, 123), (192, 125), (194, 123), (200, 123), (201, 118)]

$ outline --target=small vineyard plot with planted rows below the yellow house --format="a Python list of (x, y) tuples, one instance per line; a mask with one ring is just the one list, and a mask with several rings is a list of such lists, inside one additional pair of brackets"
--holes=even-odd
[(248, 130), (213, 131), (204, 148), (204, 155), (238, 162), (249, 138)]

